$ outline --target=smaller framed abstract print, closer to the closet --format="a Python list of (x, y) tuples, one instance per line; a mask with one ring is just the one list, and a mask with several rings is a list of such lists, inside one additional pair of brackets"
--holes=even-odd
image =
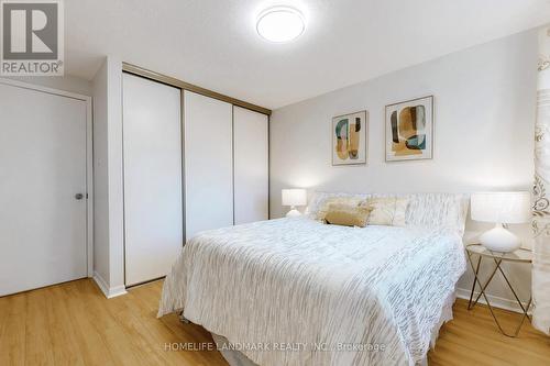
[(366, 111), (332, 119), (332, 165), (366, 164)]

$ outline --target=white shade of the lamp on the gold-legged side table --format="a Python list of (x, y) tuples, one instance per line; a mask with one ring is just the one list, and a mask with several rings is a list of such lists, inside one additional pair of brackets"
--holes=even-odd
[(531, 218), (531, 195), (483, 192), (471, 197), (472, 220), (494, 223), (525, 223)]

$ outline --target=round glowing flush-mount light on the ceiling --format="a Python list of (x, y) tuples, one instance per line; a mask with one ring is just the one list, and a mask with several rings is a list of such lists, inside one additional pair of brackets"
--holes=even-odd
[(275, 43), (297, 38), (306, 29), (304, 15), (290, 7), (273, 7), (257, 16), (256, 31), (264, 40)]

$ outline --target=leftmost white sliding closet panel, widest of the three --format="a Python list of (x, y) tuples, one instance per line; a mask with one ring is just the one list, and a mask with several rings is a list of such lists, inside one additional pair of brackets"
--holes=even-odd
[(177, 88), (123, 76), (125, 285), (165, 276), (183, 246)]

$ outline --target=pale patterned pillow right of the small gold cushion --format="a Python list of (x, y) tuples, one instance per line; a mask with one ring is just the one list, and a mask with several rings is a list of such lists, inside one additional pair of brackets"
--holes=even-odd
[(361, 206), (371, 209), (369, 225), (405, 226), (408, 198), (370, 198)]

